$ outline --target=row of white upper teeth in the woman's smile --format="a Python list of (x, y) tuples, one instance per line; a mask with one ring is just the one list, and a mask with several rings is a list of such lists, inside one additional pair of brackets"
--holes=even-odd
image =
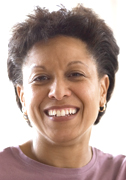
[(48, 115), (49, 116), (69, 116), (71, 114), (75, 114), (77, 112), (77, 109), (70, 108), (70, 109), (62, 109), (62, 110), (49, 110)]

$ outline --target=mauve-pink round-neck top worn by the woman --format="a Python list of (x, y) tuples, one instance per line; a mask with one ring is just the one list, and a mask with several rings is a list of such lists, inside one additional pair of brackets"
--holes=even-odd
[(77, 169), (48, 166), (28, 158), (20, 147), (0, 152), (0, 180), (126, 180), (126, 157), (96, 148), (92, 160)]

